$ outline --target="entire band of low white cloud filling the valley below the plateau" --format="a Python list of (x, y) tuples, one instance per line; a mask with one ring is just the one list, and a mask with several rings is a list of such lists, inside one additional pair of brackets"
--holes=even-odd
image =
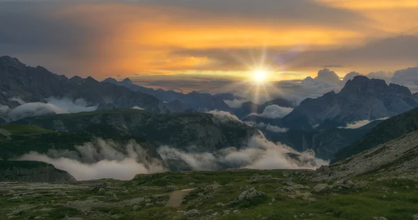
[[(45, 154), (29, 152), (18, 160), (47, 162), (68, 171), (77, 180), (114, 178), (131, 180), (139, 173), (169, 171), (169, 167), (185, 164), (186, 169), (216, 171), (224, 168), (308, 168), (326, 165), (311, 150), (297, 152), (281, 143), (272, 143), (264, 136), (253, 136), (244, 146), (229, 147), (214, 152), (183, 151), (170, 146), (157, 148), (160, 158), (151, 158), (135, 141), (119, 143), (96, 139), (74, 150), (51, 149)], [(176, 169), (174, 169), (176, 170)]]

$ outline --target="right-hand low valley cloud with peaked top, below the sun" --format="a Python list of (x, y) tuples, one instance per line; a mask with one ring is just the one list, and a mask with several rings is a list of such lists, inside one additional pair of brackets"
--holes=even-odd
[(317, 159), (314, 152), (297, 152), (280, 143), (267, 141), (263, 136), (253, 136), (243, 148), (224, 148), (216, 152), (185, 152), (169, 146), (157, 150), (164, 161), (179, 160), (199, 171), (222, 168), (309, 168), (328, 164)]

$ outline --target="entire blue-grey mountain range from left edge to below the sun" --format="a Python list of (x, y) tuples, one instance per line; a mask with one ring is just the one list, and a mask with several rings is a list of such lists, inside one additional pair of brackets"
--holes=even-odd
[[(67, 77), (49, 72), (37, 66), (26, 66), (17, 58), (0, 57), (0, 123), (10, 120), (7, 111), (24, 103), (47, 103), (49, 98), (68, 99), (72, 102), (83, 100), (87, 107), (97, 109), (118, 109), (137, 107), (155, 113), (210, 111), (229, 109), (223, 100), (233, 100), (232, 94), (210, 95), (193, 92), (189, 94), (173, 91), (154, 91), (131, 84), (118, 86), (109, 79), (99, 82), (93, 77)], [(127, 81), (125, 81), (126, 83)], [(141, 93), (143, 91), (145, 93)]]

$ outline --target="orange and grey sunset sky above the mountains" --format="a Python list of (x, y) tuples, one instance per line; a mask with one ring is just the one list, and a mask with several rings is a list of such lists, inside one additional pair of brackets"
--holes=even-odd
[[(0, 0), (0, 56), (177, 91), (418, 66), (416, 0)], [(377, 73), (379, 74), (379, 73)], [(206, 87), (205, 87), (206, 86)]]

